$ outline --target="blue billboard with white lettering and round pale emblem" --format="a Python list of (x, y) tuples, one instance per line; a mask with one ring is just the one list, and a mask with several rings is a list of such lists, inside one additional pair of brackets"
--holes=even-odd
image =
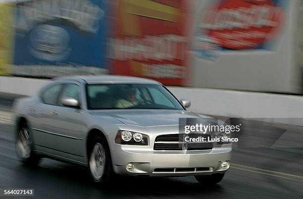
[(105, 0), (16, 4), (13, 74), (54, 77), (107, 73)]

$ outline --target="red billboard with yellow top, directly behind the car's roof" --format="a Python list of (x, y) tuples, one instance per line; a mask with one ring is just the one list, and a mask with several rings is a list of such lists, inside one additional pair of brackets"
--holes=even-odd
[(188, 7), (184, 0), (119, 0), (107, 41), (110, 73), (185, 85)]

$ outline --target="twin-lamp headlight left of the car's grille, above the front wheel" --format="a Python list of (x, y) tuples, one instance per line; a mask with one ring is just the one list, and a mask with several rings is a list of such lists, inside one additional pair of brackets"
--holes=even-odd
[(116, 144), (121, 145), (148, 145), (148, 136), (142, 133), (135, 133), (130, 131), (119, 131), (116, 138)]

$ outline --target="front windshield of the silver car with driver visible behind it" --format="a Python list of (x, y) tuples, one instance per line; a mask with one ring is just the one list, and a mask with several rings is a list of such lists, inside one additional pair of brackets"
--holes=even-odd
[(180, 103), (161, 85), (89, 84), (89, 109), (181, 109)]

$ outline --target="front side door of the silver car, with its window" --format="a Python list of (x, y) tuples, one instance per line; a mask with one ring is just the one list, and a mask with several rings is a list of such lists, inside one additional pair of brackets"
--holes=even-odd
[(48, 130), (54, 135), (50, 148), (56, 149), (56, 154), (81, 161), (84, 157), (83, 139), (86, 122), (81, 108), (66, 107), (62, 98), (77, 99), (82, 104), (82, 86), (77, 82), (64, 83), (58, 99), (58, 105), (53, 107)]

